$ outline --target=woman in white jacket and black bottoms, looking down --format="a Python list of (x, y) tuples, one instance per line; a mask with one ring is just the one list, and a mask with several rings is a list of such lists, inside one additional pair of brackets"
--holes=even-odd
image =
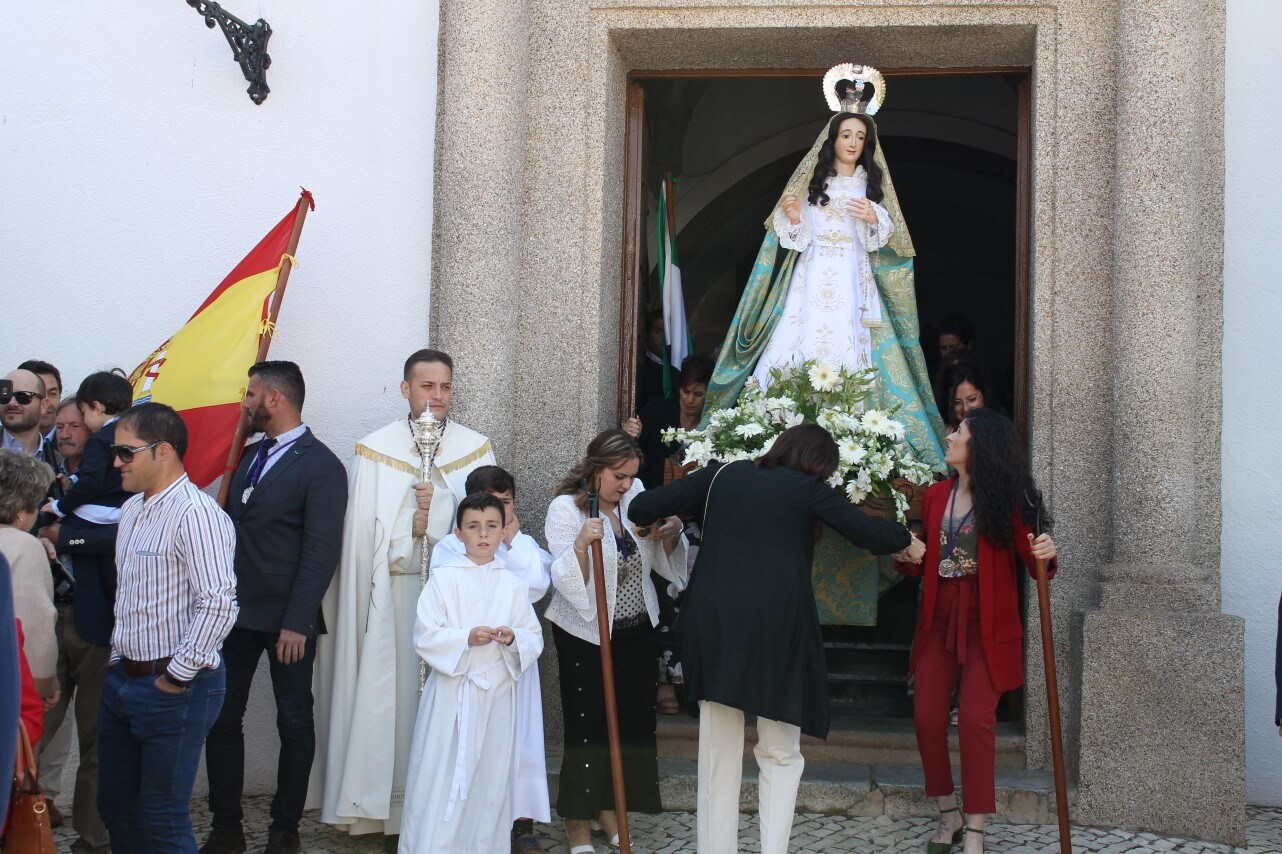
[[(614, 691), (619, 713), (623, 777), (631, 812), (656, 813), (659, 762), (655, 744), (659, 600), (650, 572), (686, 585), (686, 539), (681, 521), (663, 519), (651, 530), (624, 524), (628, 505), (644, 490), (637, 480), (641, 449), (627, 433), (608, 430), (587, 446), (586, 456), (556, 487), (547, 508), (545, 533), (553, 554), (553, 623), (560, 664), (562, 759), (556, 812), (565, 818), (570, 854), (591, 854), (590, 821), (597, 819), (618, 844), (614, 787), (601, 682), (601, 648), (596, 622), (596, 587), (590, 546), (601, 541), (605, 601), (610, 618)], [(600, 517), (588, 518), (587, 492), (600, 496)], [(605, 536), (609, 532), (609, 536)]]

